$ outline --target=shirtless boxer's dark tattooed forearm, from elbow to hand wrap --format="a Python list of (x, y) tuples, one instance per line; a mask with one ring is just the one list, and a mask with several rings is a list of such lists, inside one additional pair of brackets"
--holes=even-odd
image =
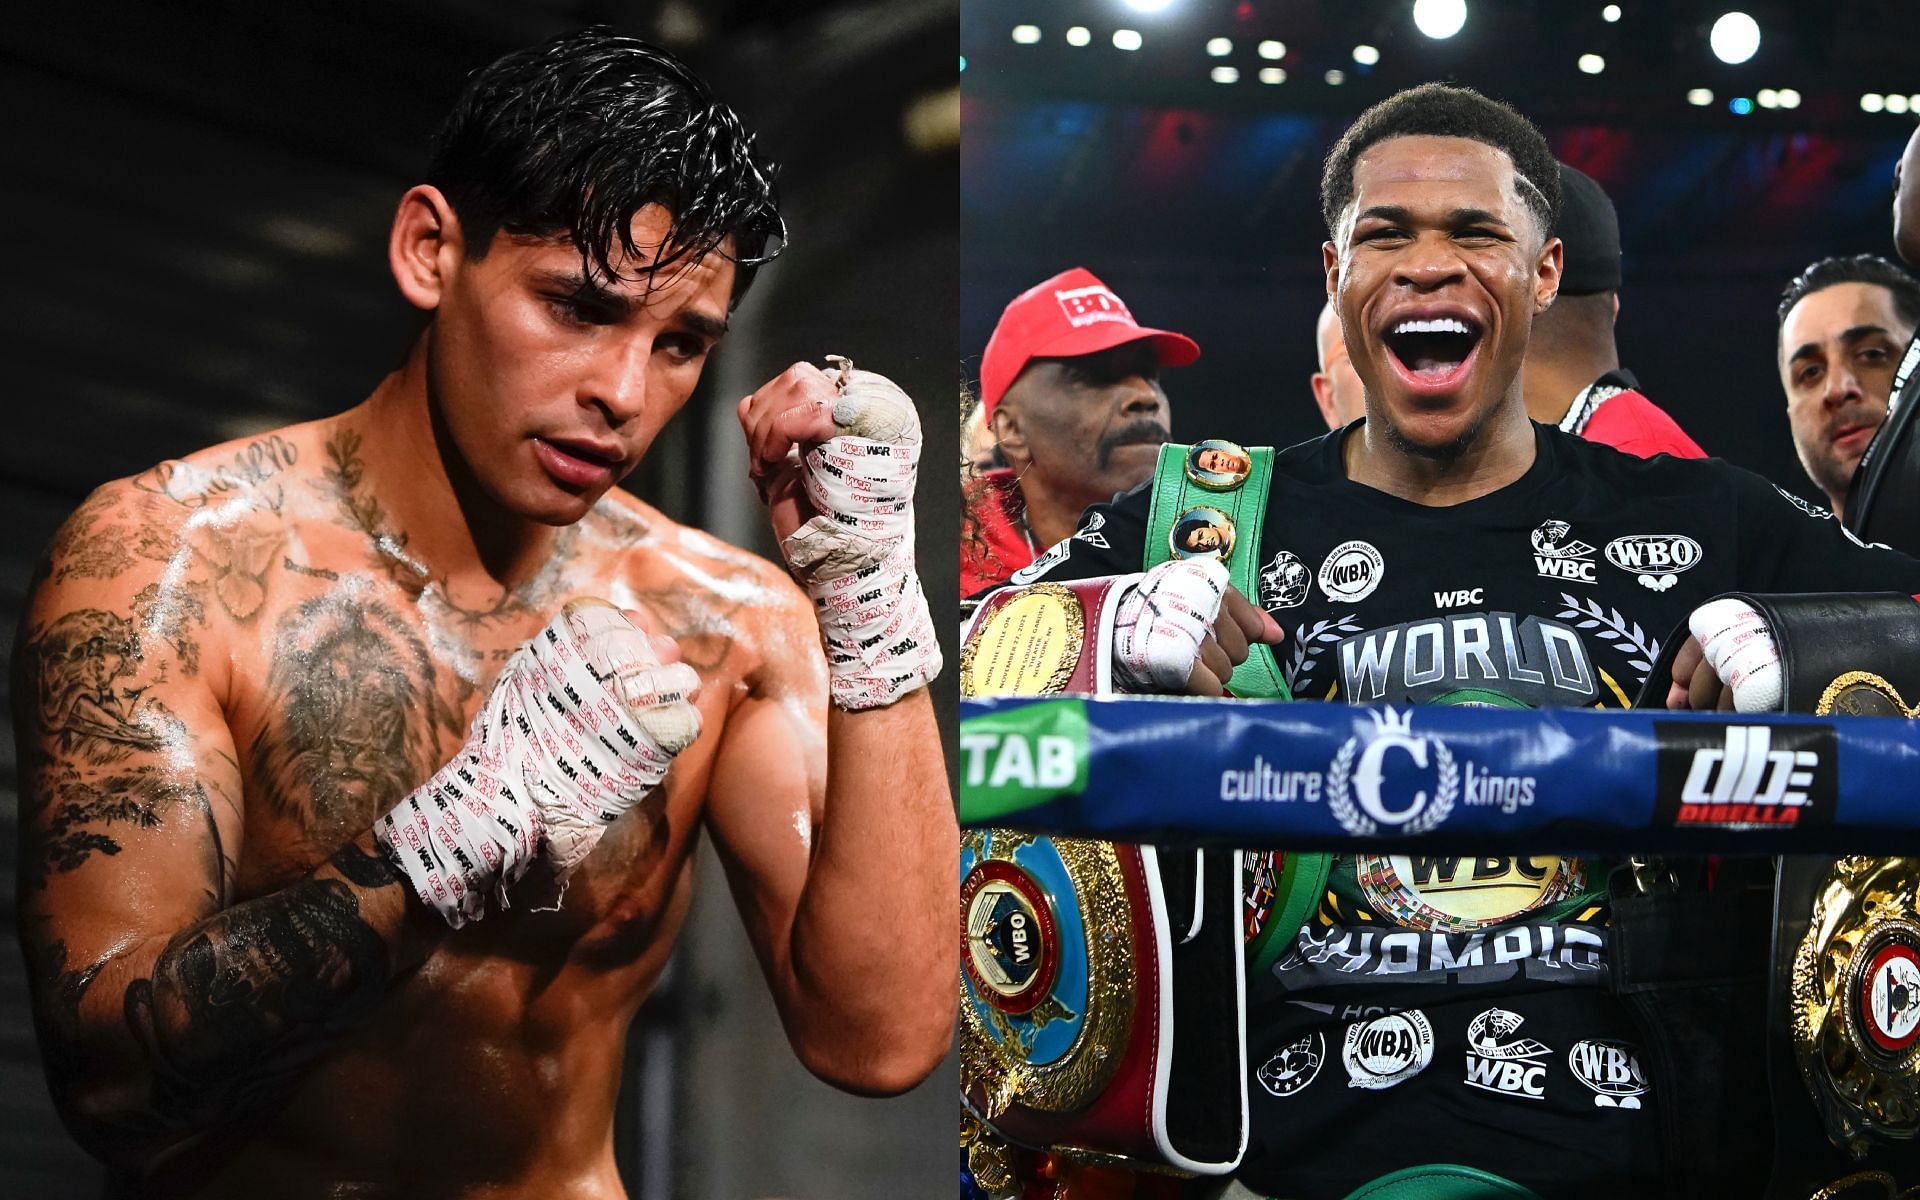
[(108, 1162), (150, 1165), (269, 1100), (445, 933), (363, 833), (298, 883), (129, 950), (61, 1046), (100, 1071), (71, 1081), (79, 1131)]

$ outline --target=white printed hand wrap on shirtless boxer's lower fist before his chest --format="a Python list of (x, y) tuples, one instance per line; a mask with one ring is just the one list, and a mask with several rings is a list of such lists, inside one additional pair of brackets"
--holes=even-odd
[(659, 787), (701, 732), (699, 676), (662, 664), (607, 601), (580, 599), (515, 651), (467, 745), (392, 812), (374, 839), (415, 895), (459, 929), (543, 852), (566, 874)]

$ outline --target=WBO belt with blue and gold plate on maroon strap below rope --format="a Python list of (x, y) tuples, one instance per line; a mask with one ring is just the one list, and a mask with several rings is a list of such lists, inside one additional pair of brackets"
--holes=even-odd
[(1244, 1027), (1240, 889), (1221, 862), (966, 833), (960, 1091), (973, 1117), (1075, 1162), (1194, 1175), (1240, 1162), (1244, 1037), (1219, 1037)]

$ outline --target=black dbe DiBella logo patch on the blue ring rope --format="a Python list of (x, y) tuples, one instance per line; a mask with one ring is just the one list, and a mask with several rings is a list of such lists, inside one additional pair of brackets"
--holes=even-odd
[(1832, 726), (1655, 722), (1657, 814), (1676, 828), (1824, 824), (1837, 791)]

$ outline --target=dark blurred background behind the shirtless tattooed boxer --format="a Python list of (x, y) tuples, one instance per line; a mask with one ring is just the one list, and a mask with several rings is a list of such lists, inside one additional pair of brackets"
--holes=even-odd
[[(793, 230), (628, 486), (778, 557), (733, 405), (826, 353), (899, 380), (927, 413), (927, 459), (954, 461), (956, 21), (958, 0), (102, 0), (13, 13), (0, 46), (12, 113), (6, 643), (35, 561), (96, 484), (342, 411), (399, 361), (419, 326), (388, 275), (386, 234), (434, 125), (468, 71), (582, 25), (687, 58), (783, 165)], [(958, 503), (939, 472), (920, 520), (933, 547), (925, 588), (948, 632)], [(937, 689), (948, 728), (950, 680)], [(12, 929), (12, 733), (0, 747), (0, 924)], [(716, 860), (701, 858), (682, 950), (630, 1041), (616, 1121), (630, 1194), (952, 1194), (952, 1071), (889, 1102), (806, 1075)], [(0, 1196), (98, 1196), (100, 1179), (52, 1112), (8, 945)]]

